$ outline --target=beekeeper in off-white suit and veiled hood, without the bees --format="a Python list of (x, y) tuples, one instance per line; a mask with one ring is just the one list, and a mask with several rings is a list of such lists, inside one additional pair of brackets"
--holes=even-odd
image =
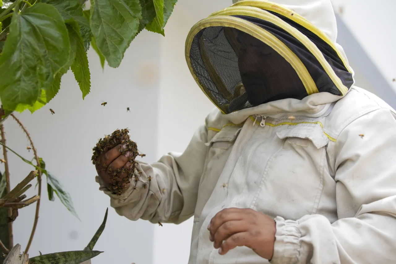
[[(396, 112), (353, 85), (336, 38), (330, 0), (243, 0), (199, 21), (187, 65), (217, 108), (122, 195), (99, 169), (111, 206), (194, 216), (189, 264), (396, 263)], [(101, 159), (129, 165), (118, 147)]]

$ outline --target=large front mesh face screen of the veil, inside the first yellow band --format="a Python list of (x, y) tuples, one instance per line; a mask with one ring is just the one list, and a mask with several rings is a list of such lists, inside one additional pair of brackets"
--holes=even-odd
[(224, 113), (308, 95), (280, 54), (237, 29), (202, 29), (192, 42), (190, 61), (205, 93)]

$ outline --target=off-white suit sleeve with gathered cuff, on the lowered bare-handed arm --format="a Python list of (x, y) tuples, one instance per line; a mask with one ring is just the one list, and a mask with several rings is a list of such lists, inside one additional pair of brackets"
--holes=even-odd
[[(364, 134), (363, 138), (359, 135)], [(396, 263), (396, 121), (388, 109), (346, 126), (335, 143), (339, 220), (276, 218), (273, 264)]]

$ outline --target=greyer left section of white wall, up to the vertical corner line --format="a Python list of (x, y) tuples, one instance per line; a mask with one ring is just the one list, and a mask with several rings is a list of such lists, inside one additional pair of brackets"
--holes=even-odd
[[(94, 180), (96, 173), (91, 155), (92, 147), (104, 134), (110, 134), (116, 128), (129, 127), (131, 138), (138, 143), (139, 150), (147, 154), (145, 161), (155, 161), (158, 82), (142, 80), (141, 65), (150, 61), (159, 65), (160, 38), (147, 31), (139, 34), (120, 67), (106, 67), (103, 73), (97, 55), (90, 50), (92, 86), (84, 101), (74, 76), (69, 72), (62, 78), (59, 94), (48, 105), (33, 115), (29, 112), (17, 114), (30, 132), (38, 155), (44, 159), (48, 170), (69, 191), (82, 221), (72, 216), (58, 198), (54, 202), (48, 201), (44, 177), (40, 219), (29, 250), (30, 256), (38, 255), (38, 251), (45, 254), (84, 249), (99, 228), (106, 207), (109, 207), (107, 226), (95, 245), (96, 250), (105, 252), (94, 258), (92, 263), (152, 263), (154, 225), (143, 220), (131, 222), (110, 208), (109, 197), (99, 191)], [(103, 101), (108, 102), (105, 107), (101, 106)], [(130, 113), (127, 113), (127, 107), (130, 107)], [(55, 115), (50, 114), (49, 108), (55, 111)], [(4, 126), (8, 145), (30, 160), (32, 151), (27, 151), (27, 139), (17, 124), (10, 118)], [(27, 176), (32, 167), (12, 153), (8, 155), (13, 187)], [(0, 170), (4, 171), (3, 167)], [(32, 183), (34, 185), (36, 181)], [(32, 187), (27, 195), (33, 196), (34, 193), (36, 191)], [(14, 241), (23, 249), (32, 228), (34, 210), (35, 206), (19, 210), (19, 217), (15, 220)]]

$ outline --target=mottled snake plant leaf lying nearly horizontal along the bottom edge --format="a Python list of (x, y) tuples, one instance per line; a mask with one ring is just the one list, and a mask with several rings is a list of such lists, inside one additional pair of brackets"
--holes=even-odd
[(44, 254), (29, 258), (29, 264), (78, 264), (89, 260), (103, 251), (66, 251)]

